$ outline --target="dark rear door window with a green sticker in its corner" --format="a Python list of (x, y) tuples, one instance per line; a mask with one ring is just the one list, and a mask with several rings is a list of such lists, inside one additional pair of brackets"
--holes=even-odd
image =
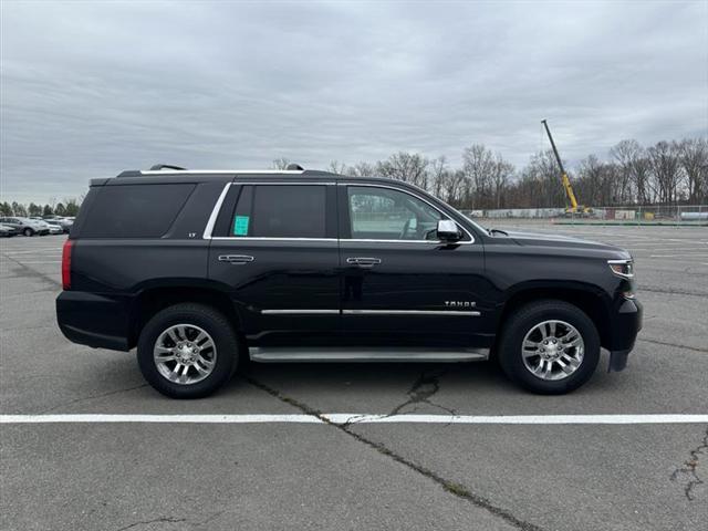
[(324, 186), (246, 186), (236, 206), (231, 236), (324, 238), (325, 204)]

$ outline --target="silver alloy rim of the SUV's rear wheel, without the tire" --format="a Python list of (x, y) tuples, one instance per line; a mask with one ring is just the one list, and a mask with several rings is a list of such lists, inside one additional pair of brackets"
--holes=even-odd
[(211, 336), (199, 326), (175, 324), (159, 334), (153, 357), (165, 378), (189, 385), (211, 374), (217, 362), (217, 347)]

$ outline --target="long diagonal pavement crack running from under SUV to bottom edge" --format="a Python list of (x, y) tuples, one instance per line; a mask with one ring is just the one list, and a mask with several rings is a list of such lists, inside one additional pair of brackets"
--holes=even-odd
[[(369, 448), (378, 451), (379, 454), (382, 454), (383, 456), (386, 456), (391, 459), (393, 459), (394, 461), (407, 467), (409, 470), (413, 470), (421, 476), (425, 476), (426, 478), (435, 481), (436, 483), (438, 483), (440, 487), (442, 487), (442, 489), (445, 489), (447, 492), (461, 498), (470, 503), (472, 503), (476, 507), (479, 507), (481, 509), (487, 510), (489, 513), (493, 514), (494, 517), (498, 517), (502, 520), (504, 520), (507, 523), (522, 530), (522, 531), (543, 531), (542, 528), (531, 523), (531, 522), (527, 522), (524, 520), (521, 520), (520, 518), (513, 516), (510, 511), (508, 511), (507, 509), (503, 509), (501, 507), (496, 506), (494, 503), (492, 503), (491, 500), (476, 494), (471, 491), (469, 491), (465, 486), (457, 483), (455, 481), (450, 481), (448, 479), (445, 479), (442, 476), (438, 475), (437, 472), (430, 470), (429, 468), (424, 467), (423, 465), (418, 465), (415, 461), (412, 461), (405, 457), (403, 457), (399, 454), (396, 454), (394, 450), (389, 449), (388, 447), (386, 447), (383, 442), (377, 442), (375, 440), (372, 440), (361, 434), (357, 434), (356, 431), (352, 431), (351, 430), (351, 423), (347, 421), (344, 424), (339, 424), (339, 423), (334, 423), (332, 421), (330, 418), (326, 417), (326, 415), (324, 415), (322, 412), (314, 409), (312, 407), (310, 407), (309, 405), (296, 400), (295, 398), (292, 398), (288, 395), (284, 395), (283, 393), (281, 393), (280, 391), (270, 387), (261, 382), (259, 382), (258, 379), (252, 378), (251, 376), (248, 375), (242, 375), (243, 379), (246, 382), (248, 382), (249, 384), (251, 384), (253, 387), (257, 387), (266, 393), (268, 393), (269, 395), (271, 395), (272, 397), (289, 404), (290, 406), (300, 409), (302, 413), (306, 414), (306, 415), (311, 415), (313, 417), (319, 418), (320, 420), (322, 420), (324, 424), (327, 424), (329, 426), (332, 426), (336, 429), (339, 429), (340, 431), (348, 435), (350, 437), (354, 438), (355, 440), (357, 440), (358, 442), (362, 442), (366, 446), (368, 446)], [(436, 377), (439, 377), (436, 376)], [(419, 378), (421, 379), (421, 378)], [(423, 384), (421, 384), (423, 385)], [(414, 385), (415, 387), (415, 385)], [(435, 386), (434, 386), (435, 387)]]

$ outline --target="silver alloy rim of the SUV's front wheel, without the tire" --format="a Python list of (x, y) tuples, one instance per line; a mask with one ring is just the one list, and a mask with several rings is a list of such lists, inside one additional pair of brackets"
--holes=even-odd
[(583, 336), (565, 321), (543, 321), (523, 337), (523, 364), (541, 379), (558, 381), (569, 377), (583, 363)]

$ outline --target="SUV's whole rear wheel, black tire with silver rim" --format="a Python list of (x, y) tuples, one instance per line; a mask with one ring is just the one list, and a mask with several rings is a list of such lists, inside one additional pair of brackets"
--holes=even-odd
[[(202, 333), (206, 337), (200, 340)], [(192, 353), (195, 347), (197, 354)], [(158, 362), (156, 355), (167, 361)], [(238, 355), (239, 344), (229, 320), (214, 308), (196, 303), (176, 304), (155, 314), (143, 327), (137, 343), (143, 376), (156, 391), (171, 398), (212, 394), (230, 379)], [(187, 366), (186, 375), (179, 376)]]

